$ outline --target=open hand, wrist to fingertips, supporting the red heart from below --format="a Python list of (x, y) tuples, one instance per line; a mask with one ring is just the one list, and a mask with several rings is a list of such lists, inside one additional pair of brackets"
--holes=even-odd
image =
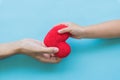
[(47, 63), (58, 63), (60, 58), (54, 53), (58, 52), (58, 48), (46, 47), (42, 42), (33, 39), (24, 39), (19, 41), (19, 53), (29, 55), (39, 61)]

